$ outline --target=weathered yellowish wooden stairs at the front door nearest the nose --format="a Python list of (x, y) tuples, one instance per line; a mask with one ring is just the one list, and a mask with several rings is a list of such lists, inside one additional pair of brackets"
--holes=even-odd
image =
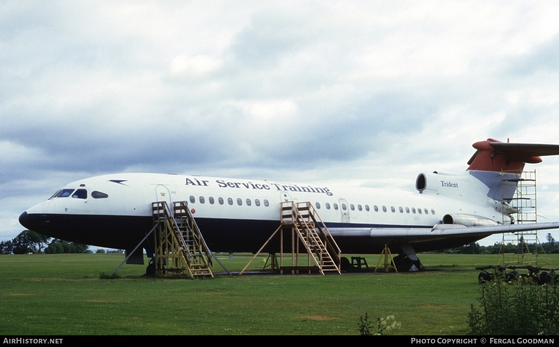
[(186, 201), (151, 203), (155, 238), (155, 275), (190, 278), (214, 277), (211, 251), (192, 217)]

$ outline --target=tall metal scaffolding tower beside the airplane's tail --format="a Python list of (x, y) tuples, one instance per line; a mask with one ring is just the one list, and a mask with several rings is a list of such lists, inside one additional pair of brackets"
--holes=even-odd
[[(517, 224), (536, 223), (536, 171), (501, 173), (503, 201), (510, 199)], [(538, 240), (538, 231), (518, 231), (503, 234), (499, 251), (502, 265), (549, 264), (549, 259)]]

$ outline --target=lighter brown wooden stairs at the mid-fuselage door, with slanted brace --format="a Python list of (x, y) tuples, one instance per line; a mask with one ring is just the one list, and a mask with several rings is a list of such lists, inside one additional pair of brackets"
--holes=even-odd
[[(291, 231), (291, 265), (283, 265), (283, 231)], [(281, 203), (281, 220), (280, 226), (273, 232), (272, 236), (264, 243), (262, 248), (250, 259), (239, 275), (243, 274), (248, 265), (256, 258), (256, 256), (264, 249), (273, 237), (280, 233), (280, 273), (284, 270), (290, 270), (291, 273), (299, 273), (300, 271), (311, 272), (318, 271), (320, 274), (325, 272), (340, 271), (341, 252), (335, 243), (330, 232), (324, 225), (324, 222), (318, 216), (310, 202), (293, 202), (287, 201)], [(307, 264), (300, 264), (300, 250), (307, 254)], [(275, 257), (274, 257), (275, 258)]]

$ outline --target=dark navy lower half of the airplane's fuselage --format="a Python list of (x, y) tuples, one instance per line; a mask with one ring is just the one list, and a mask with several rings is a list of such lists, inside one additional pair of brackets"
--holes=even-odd
[[(148, 216), (103, 216), (103, 215), (29, 215), (25, 225), (41, 234), (81, 244), (94, 245), (113, 249), (134, 249), (153, 227), (153, 219)], [(255, 253), (266, 243), (272, 233), (280, 226), (279, 221), (265, 220), (233, 220), (197, 218), (198, 227), (207, 246), (214, 253)], [(375, 228), (372, 225), (355, 225), (329, 223), (332, 229), (350, 229), (350, 227)], [(397, 226), (392, 226), (396, 228)], [(423, 227), (425, 228), (425, 227)], [(291, 251), (290, 233), (284, 231), (283, 251)], [(455, 248), (475, 242), (479, 235), (444, 237), (440, 239), (417, 237), (414, 240), (400, 238), (376, 238), (373, 230), (369, 235), (361, 237), (334, 236), (342, 254), (381, 254), (385, 244), (391, 253), (401, 253), (401, 245), (411, 245), (416, 252)], [(148, 237), (143, 248), (153, 250), (153, 239)], [(274, 237), (263, 249), (265, 253), (280, 251), (279, 236)], [(153, 251), (152, 251), (153, 253)]]

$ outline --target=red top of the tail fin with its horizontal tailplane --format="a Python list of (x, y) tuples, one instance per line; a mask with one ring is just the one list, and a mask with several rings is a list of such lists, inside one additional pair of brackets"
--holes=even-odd
[(513, 144), (487, 139), (472, 146), (477, 151), (468, 161), (468, 170), (522, 173), (524, 164), (541, 163), (540, 156), (559, 155), (559, 145)]

